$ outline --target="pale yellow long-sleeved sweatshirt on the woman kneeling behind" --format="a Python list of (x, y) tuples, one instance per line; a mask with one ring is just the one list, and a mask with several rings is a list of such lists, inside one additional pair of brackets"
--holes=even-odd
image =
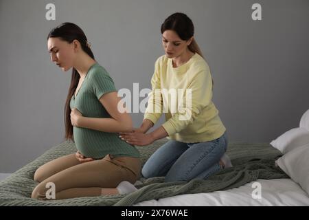
[(211, 101), (211, 74), (202, 56), (194, 54), (179, 67), (172, 66), (171, 58), (159, 57), (151, 85), (144, 119), (155, 124), (165, 113), (166, 122), (162, 126), (168, 139), (185, 143), (207, 142), (225, 133), (218, 109)]

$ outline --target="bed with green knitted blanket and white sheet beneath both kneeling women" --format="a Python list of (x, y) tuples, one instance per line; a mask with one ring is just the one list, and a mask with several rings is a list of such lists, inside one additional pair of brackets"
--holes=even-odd
[[(137, 147), (143, 164), (167, 139)], [(282, 153), (268, 143), (234, 142), (227, 154), (233, 167), (220, 170), (207, 180), (165, 183), (164, 177), (137, 181), (139, 189), (125, 195), (106, 195), (62, 200), (31, 199), (36, 186), (35, 170), (52, 159), (75, 153), (73, 142), (50, 148), (33, 162), (0, 181), (0, 206), (309, 206), (309, 197), (299, 184), (276, 166)], [(253, 196), (258, 182), (262, 199)]]

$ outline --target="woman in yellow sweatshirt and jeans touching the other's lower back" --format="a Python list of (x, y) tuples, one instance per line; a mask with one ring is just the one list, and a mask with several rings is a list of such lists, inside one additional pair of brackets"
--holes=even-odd
[[(155, 63), (144, 120), (134, 132), (120, 133), (120, 137), (137, 146), (168, 137), (169, 141), (144, 165), (141, 173), (146, 178), (207, 179), (231, 166), (225, 154), (226, 128), (211, 101), (209, 66), (194, 40), (194, 25), (187, 15), (170, 15), (161, 25), (161, 34), (165, 55)], [(166, 122), (146, 133), (159, 120), (162, 110)]]

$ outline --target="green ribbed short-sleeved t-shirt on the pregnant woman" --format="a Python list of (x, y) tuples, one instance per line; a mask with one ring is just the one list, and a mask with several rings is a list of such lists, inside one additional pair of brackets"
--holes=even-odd
[[(113, 79), (104, 67), (95, 63), (89, 68), (76, 98), (72, 96), (70, 108), (78, 109), (84, 117), (111, 118), (100, 102), (101, 96), (111, 91), (117, 91)], [(114, 157), (140, 157), (137, 148), (121, 140), (117, 133), (73, 126), (73, 137), (76, 148), (86, 157), (100, 159), (107, 154)]]

